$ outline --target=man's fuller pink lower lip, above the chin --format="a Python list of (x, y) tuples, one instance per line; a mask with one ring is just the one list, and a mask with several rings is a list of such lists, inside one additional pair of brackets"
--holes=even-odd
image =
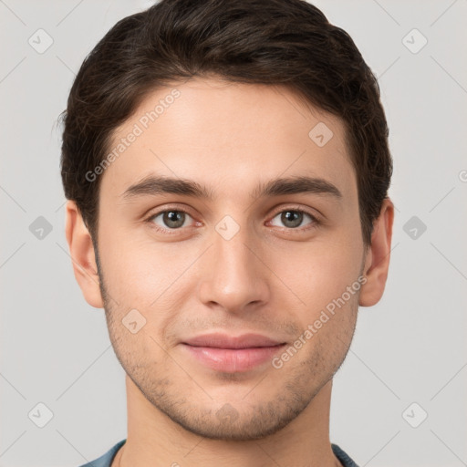
[(285, 344), (254, 348), (213, 348), (182, 345), (205, 366), (229, 373), (256, 368), (271, 360), (277, 352), (285, 347)]

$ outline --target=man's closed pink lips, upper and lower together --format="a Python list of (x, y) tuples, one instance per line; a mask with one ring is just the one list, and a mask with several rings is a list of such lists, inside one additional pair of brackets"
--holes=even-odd
[(182, 348), (203, 366), (230, 373), (260, 367), (284, 347), (285, 342), (259, 334), (208, 334), (182, 342)]

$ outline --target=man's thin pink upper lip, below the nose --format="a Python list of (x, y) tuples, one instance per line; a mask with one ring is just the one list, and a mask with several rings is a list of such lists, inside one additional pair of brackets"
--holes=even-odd
[(184, 340), (183, 344), (194, 347), (213, 348), (253, 348), (253, 347), (274, 347), (285, 342), (280, 342), (271, 337), (261, 334), (242, 334), (241, 336), (229, 336), (227, 334), (214, 333), (204, 334)]

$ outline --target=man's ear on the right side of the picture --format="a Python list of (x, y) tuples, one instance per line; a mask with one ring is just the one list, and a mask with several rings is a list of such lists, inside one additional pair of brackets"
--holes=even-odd
[(367, 282), (361, 287), (359, 305), (376, 305), (384, 292), (388, 278), (394, 204), (385, 198), (378, 219), (374, 223), (363, 273)]

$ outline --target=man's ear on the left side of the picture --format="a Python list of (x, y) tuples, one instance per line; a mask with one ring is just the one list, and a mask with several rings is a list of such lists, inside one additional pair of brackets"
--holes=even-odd
[(91, 235), (76, 202), (73, 201), (67, 202), (65, 233), (73, 262), (73, 271), (83, 296), (90, 306), (103, 308), (98, 265)]

